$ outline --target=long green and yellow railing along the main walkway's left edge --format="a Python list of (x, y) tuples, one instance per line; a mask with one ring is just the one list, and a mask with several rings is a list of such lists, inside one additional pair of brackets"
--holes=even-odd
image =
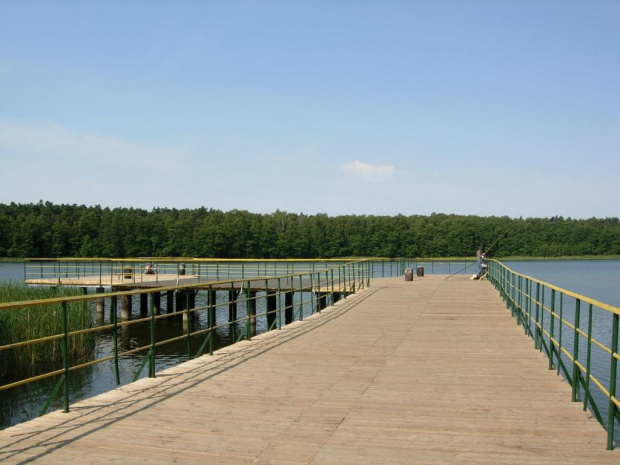
[[(342, 261), (340, 261), (342, 262)], [(243, 264), (241, 264), (243, 265)], [(286, 265), (284, 265), (286, 266)], [(47, 306), (60, 305), (62, 311), (57, 316), (62, 320), (62, 332), (49, 334), (33, 340), (20, 340), (9, 344), (0, 345), (0, 356), (4, 351), (17, 350), (36, 344), (46, 344), (60, 340), (62, 343), (62, 360), (58, 363), (61, 367), (46, 369), (44, 373), (25, 379), (13, 380), (6, 384), (0, 384), (0, 392), (24, 386), (35, 381), (48, 378), (56, 378), (56, 384), (50, 396), (41, 408), (40, 414), (47, 412), (53, 400), (62, 389), (64, 411), (69, 411), (69, 378), (72, 373), (103, 362), (113, 362), (116, 384), (120, 385), (119, 359), (134, 354), (144, 354), (133, 380), (137, 380), (144, 368), (148, 365), (148, 376), (156, 376), (156, 354), (158, 350), (171, 343), (185, 341), (187, 358), (191, 359), (203, 355), (208, 351), (213, 354), (214, 334), (218, 329), (227, 328), (232, 334), (232, 342), (243, 339), (250, 340), (256, 334), (256, 322), (258, 318), (267, 321), (266, 331), (281, 329), (283, 325), (292, 321), (303, 320), (305, 313), (320, 312), (328, 305), (335, 304), (341, 298), (364, 289), (370, 285), (370, 265), (367, 260), (357, 260), (337, 263), (334, 266), (316, 266), (314, 263), (306, 264), (309, 271), (295, 272), (280, 276), (248, 277), (242, 279), (217, 280), (210, 282), (192, 283), (167, 287), (153, 287), (123, 292), (99, 293), (94, 295), (43, 299), (27, 302), (0, 303), (0, 312), (19, 311), (28, 308), (29, 311), (37, 311)], [(315, 268), (315, 270), (312, 270)], [(283, 264), (275, 268), (283, 269)], [(290, 264), (288, 265), (290, 269)], [(269, 267), (267, 268), (269, 270)], [(206, 292), (206, 303), (196, 304), (197, 292)], [(227, 301), (216, 301), (217, 293), (228, 292)], [(180, 296), (177, 299), (176, 311), (163, 313), (157, 303), (157, 296), (167, 293), (175, 293)], [(170, 294), (168, 294), (170, 295)], [(127, 301), (134, 296), (141, 296), (140, 300), (148, 302), (148, 312), (137, 319), (119, 321), (119, 301)], [(110, 323), (98, 324), (91, 328), (75, 329), (67, 325), (67, 311), (73, 303), (88, 301), (93, 307), (97, 303), (105, 302), (104, 308), (110, 309)], [(263, 311), (258, 311), (258, 303), (262, 302)], [(179, 308), (180, 304), (180, 308)], [(216, 322), (216, 309), (227, 306), (228, 318), (223, 322)], [(239, 311), (243, 309), (243, 311)], [(202, 312), (206, 314), (206, 327), (192, 330), (189, 324), (195, 315)], [(182, 316), (188, 324), (183, 325), (184, 333), (165, 339), (156, 338), (156, 326), (159, 322)], [(148, 325), (150, 340), (148, 344), (134, 347), (128, 350), (120, 350), (118, 334), (134, 325)], [(243, 326), (240, 331), (235, 328)], [(71, 338), (85, 334), (103, 331), (112, 332), (112, 353), (95, 358), (87, 362), (71, 360), (67, 351), (67, 345)], [(192, 342), (199, 341), (197, 350), (192, 350)], [(197, 345), (197, 344), (194, 344)]]

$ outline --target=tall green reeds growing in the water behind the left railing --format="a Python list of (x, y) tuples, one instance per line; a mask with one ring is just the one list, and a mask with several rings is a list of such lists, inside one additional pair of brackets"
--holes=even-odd
[[(78, 289), (60, 287), (28, 287), (13, 282), (0, 282), (0, 302), (18, 302), (80, 295)], [(88, 302), (68, 304), (69, 331), (92, 327)], [(38, 305), (0, 311), (0, 346), (62, 334), (62, 305)], [(35, 376), (62, 366), (62, 339), (0, 351), (0, 376), (14, 379)], [(95, 339), (92, 333), (71, 336), (69, 360), (90, 359)]]

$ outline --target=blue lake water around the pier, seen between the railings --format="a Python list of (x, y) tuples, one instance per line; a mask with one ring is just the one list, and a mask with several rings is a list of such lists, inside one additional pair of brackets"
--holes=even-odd
[[(504, 262), (513, 271), (526, 274), (534, 278), (546, 281), (550, 284), (562, 287), (566, 290), (577, 292), (601, 302), (620, 307), (620, 260), (562, 260), (562, 261), (506, 261)], [(426, 274), (455, 274), (455, 273), (471, 273), (473, 260), (471, 262), (406, 262), (406, 263), (375, 263), (373, 266), (373, 274), (376, 277), (384, 276), (401, 276), (404, 267), (414, 268), (422, 265)], [(24, 279), (24, 265), (22, 263), (2, 263), (0, 262), (0, 281), (12, 280), (22, 282)], [(206, 300), (206, 296), (198, 295), (197, 304), (201, 299)], [(220, 297), (218, 296), (218, 301)], [(222, 301), (227, 299), (227, 294), (222, 296)], [(264, 312), (264, 306), (258, 302), (257, 312)], [(135, 309), (139, 308), (139, 302), (134, 302)], [(162, 298), (162, 308), (164, 301)], [(569, 303), (567, 302), (567, 312), (570, 313)], [(305, 305), (303, 313), (305, 316), (310, 314), (312, 309)], [(227, 318), (228, 308), (222, 306), (217, 310), (217, 321), (225, 321)], [(586, 313), (586, 312), (584, 312)], [(245, 316), (244, 310), (240, 308), (239, 318)], [(595, 317), (596, 318), (596, 317)], [(583, 319), (583, 315), (582, 315)], [(109, 309), (106, 308), (106, 322), (109, 321)], [(548, 324), (548, 323), (547, 323)], [(158, 323), (159, 325), (159, 323)], [(204, 316), (200, 316), (193, 323), (192, 330), (198, 330), (206, 327), (207, 322)], [(182, 322), (179, 320), (163, 321), (158, 332), (163, 331), (169, 334), (182, 334)], [(610, 319), (605, 315), (596, 318), (595, 321), (597, 334), (601, 338), (608, 338), (610, 334)], [(241, 331), (242, 325), (235, 326), (236, 331)], [(257, 321), (257, 332), (266, 331), (265, 318), (259, 318)], [(237, 333), (238, 334), (238, 333)], [(228, 328), (220, 328), (215, 335), (216, 347), (221, 347), (230, 343), (230, 332)], [(119, 338), (120, 350), (128, 350), (132, 347), (140, 347), (147, 344), (149, 340), (149, 330), (147, 326), (140, 327), (135, 325), (123, 331)], [(197, 349), (200, 341), (194, 344), (192, 350)], [(98, 356), (110, 353), (112, 348), (111, 332), (99, 334), (97, 336), (96, 352)], [(599, 375), (601, 379), (609, 378), (609, 374), (604, 373), (604, 367), (609, 367), (607, 359), (603, 355), (593, 355), (595, 369), (602, 369)], [(137, 370), (142, 362), (144, 355), (137, 354), (135, 356), (123, 357), (120, 360), (121, 384), (130, 382), (133, 373)], [(175, 365), (188, 359), (187, 346), (185, 342), (178, 344), (165, 345), (158, 349), (156, 366), (157, 370)], [(581, 357), (580, 357), (581, 359)], [(600, 367), (600, 368), (597, 368)], [(112, 362), (94, 365), (88, 369), (78, 370), (71, 377), (71, 402), (91, 397), (93, 395), (105, 392), (116, 387), (115, 375)], [(147, 375), (144, 370), (142, 376)], [(3, 391), (2, 402), (0, 403), (0, 429), (10, 426), (21, 421), (37, 416), (38, 410), (45, 402), (49, 392), (52, 390), (53, 381), (46, 380), (39, 383), (16, 388), (9, 391)], [(60, 400), (57, 400), (52, 408), (61, 408)], [(617, 433), (620, 428), (616, 427)], [(618, 435), (617, 435), (618, 436)]]

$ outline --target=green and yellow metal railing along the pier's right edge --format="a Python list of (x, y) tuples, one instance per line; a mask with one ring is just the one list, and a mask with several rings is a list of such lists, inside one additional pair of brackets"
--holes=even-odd
[(495, 260), (489, 261), (488, 276), (534, 347), (547, 355), (549, 369), (570, 383), (572, 401), (583, 402), (606, 429), (607, 448), (613, 449), (620, 423), (620, 308), (516, 273)]

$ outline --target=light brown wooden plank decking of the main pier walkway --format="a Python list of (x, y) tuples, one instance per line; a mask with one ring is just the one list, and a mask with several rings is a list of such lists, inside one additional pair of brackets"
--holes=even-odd
[(3, 463), (618, 464), (488, 282), (375, 279), (281, 331), (0, 431)]

